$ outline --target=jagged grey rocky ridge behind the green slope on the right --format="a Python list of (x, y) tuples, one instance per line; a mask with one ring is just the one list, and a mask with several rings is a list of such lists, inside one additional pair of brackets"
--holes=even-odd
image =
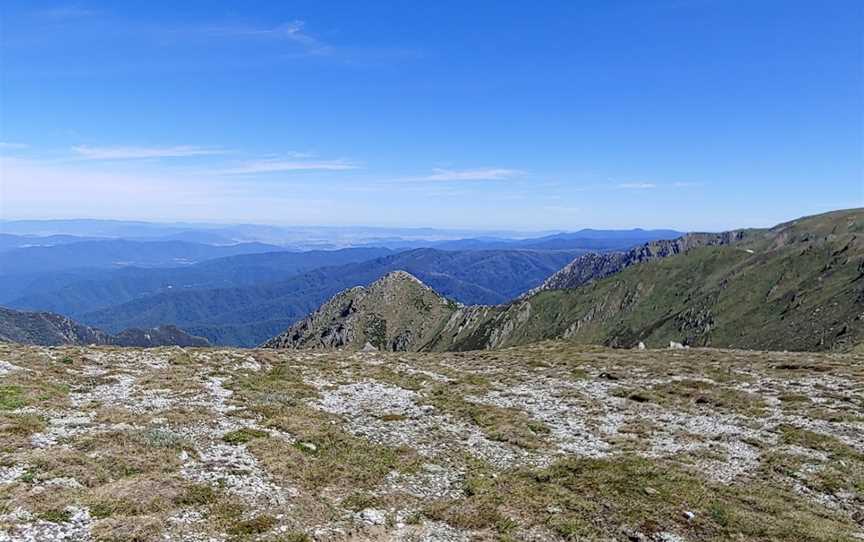
[(579, 256), (564, 266), (530, 293), (541, 290), (578, 288), (591, 281), (614, 275), (631, 265), (668, 258), (696, 247), (732, 244), (745, 239), (749, 233), (752, 232), (739, 230), (723, 233), (688, 233), (677, 239), (645, 243), (627, 252), (590, 252)]

